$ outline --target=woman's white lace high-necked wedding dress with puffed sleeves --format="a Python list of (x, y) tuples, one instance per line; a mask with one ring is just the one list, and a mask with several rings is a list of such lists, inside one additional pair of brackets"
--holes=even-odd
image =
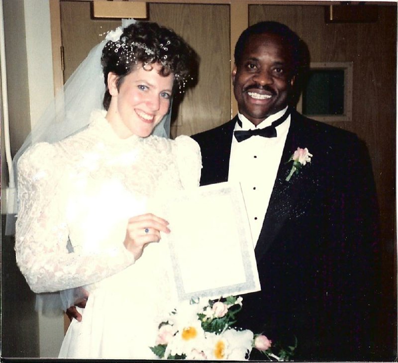
[(127, 219), (162, 216), (163, 196), (198, 187), (200, 150), (187, 136), (119, 139), (104, 115), (94, 111), (86, 130), (21, 157), (17, 264), (35, 292), (90, 291), (60, 357), (154, 359), (158, 324), (177, 302), (167, 237), (134, 262), (122, 243)]

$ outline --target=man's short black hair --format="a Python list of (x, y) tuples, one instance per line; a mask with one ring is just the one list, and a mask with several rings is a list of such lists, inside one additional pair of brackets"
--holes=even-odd
[(260, 21), (259, 23), (249, 26), (242, 32), (235, 45), (234, 58), (236, 66), (241, 64), (242, 54), (250, 36), (264, 33), (279, 35), (286, 43), (287, 47), (289, 47), (293, 60), (292, 76), (297, 75), (300, 68), (305, 68), (307, 66), (308, 55), (306, 45), (292, 29), (277, 21)]

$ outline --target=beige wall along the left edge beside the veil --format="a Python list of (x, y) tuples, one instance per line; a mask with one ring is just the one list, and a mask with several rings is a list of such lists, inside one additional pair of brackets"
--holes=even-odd
[[(53, 94), (49, 0), (3, 0), (2, 4), (9, 131), (11, 154), (14, 155)], [(1, 138), (3, 140), (3, 132)], [(1, 209), (4, 212), (8, 181), (4, 173), (3, 142), (1, 171)], [(37, 316), (34, 294), (15, 265), (13, 243), (12, 238), (2, 236), (2, 277), (6, 275), (7, 280), (12, 281), (2, 284), (1, 291), (2, 357), (57, 357), (63, 338), (63, 318)]]

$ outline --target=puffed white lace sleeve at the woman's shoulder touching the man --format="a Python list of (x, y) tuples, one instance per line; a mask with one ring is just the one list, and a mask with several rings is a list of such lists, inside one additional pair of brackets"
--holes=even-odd
[(175, 139), (180, 179), (184, 188), (199, 186), (201, 154), (199, 144), (189, 136), (181, 135)]

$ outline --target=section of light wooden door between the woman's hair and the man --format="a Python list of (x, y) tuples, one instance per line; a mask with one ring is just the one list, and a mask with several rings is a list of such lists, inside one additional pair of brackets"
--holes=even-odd
[(229, 5), (150, 3), (149, 20), (174, 29), (200, 57), (198, 86), (186, 92), (173, 134), (192, 135), (229, 120)]

